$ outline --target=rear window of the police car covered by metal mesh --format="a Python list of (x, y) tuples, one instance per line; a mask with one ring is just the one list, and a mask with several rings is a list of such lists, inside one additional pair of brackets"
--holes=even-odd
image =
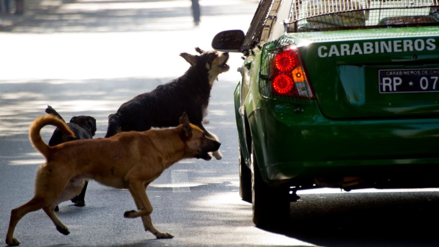
[(439, 0), (293, 0), (290, 32), (439, 25)]

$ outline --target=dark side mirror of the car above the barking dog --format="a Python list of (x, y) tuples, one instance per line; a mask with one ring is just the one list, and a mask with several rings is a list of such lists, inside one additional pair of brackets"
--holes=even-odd
[(212, 39), (212, 48), (220, 52), (239, 52), (244, 38), (242, 30), (222, 31)]

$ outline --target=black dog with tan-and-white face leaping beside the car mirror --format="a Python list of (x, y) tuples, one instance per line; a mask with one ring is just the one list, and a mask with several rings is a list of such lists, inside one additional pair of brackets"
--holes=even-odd
[[(123, 131), (177, 126), (179, 117), (186, 112), (191, 123), (218, 141), (214, 134), (203, 127), (202, 121), (207, 114), (213, 83), (218, 75), (229, 70), (229, 54), (204, 52), (198, 47), (195, 50), (200, 55), (180, 54), (191, 65), (183, 76), (159, 85), (149, 93), (135, 96), (122, 104), (115, 114), (110, 114), (105, 137)], [(217, 159), (222, 158), (219, 150), (212, 155)]]

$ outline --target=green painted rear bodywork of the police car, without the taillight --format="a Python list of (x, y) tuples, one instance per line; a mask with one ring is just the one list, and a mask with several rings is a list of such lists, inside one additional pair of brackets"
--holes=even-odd
[(255, 149), (267, 184), (311, 187), (319, 176), (439, 168), (439, 92), (395, 93), (395, 75), (389, 84), (379, 80), (379, 73), (405, 70), (425, 73), (433, 87), (438, 27), (285, 36), (298, 48), (315, 99), (263, 97), (262, 49), (246, 57), (234, 94), (241, 155), (250, 167)]

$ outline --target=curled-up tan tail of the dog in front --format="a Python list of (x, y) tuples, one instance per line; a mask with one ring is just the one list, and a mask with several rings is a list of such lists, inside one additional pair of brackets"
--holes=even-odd
[(75, 135), (73, 131), (69, 128), (69, 126), (67, 126), (67, 124), (59, 119), (57, 116), (49, 114), (35, 119), (29, 130), (29, 139), (32, 143), (32, 146), (34, 146), (35, 149), (37, 149), (44, 155), (44, 157), (47, 158), (49, 156), (49, 150), (51, 148), (46, 143), (44, 143), (43, 138), (41, 138), (40, 134), (41, 129), (46, 125), (53, 125), (57, 127), (65, 135), (71, 137), (75, 137)]

